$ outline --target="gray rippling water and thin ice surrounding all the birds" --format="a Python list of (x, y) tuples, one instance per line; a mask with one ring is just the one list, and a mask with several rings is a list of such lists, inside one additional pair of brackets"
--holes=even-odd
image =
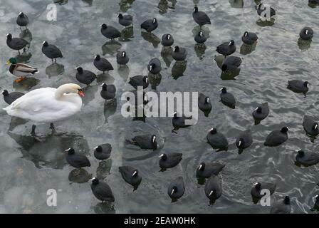
[[(0, 212), (1, 213), (268, 213), (270, 207), (254, 204), (251, 185), (256, 181), (277, 183), (271, 202), (291, 197), (294, 213), (312, 213), (313, 196), (318, 194), (318, 165), (298, 167), (294, 164), (296, 152), (318, 149), (305, 135), (303, 115), (318, 118), (318, 59), (319, 59), (319, 8), (306, 1), (267, 1), (277, 11), (274, 24), (257, 23), (253, 1), (75, 1), (56, 3), (58, 20), (47, 21), (46, 7), (51, 0), (2, 0), (0, 5), (0, 66), (1, 89), (27, 92), (46, 86), (58, 87), (63, 83), (77, 83), (75, 66), (98, 73), (98, 82), (85, 90), (83, 109), (72, 118), (56, 123), (61, 135), (50, 134), (48, 125), (41, 125), (37, 133), (45, 134), (45, 142), (35, 142), (30, 136), (32, 123), (11, 118), (0, 110)], [(244, 4), (241, 4), (244, 2)], [(193, 33), (198, 31), (192, 19), (194, 4), (206, 11), (211, 25), (206, 50), (194, 48)], [(16, 25), (19, 11), (28, 15), (31, 33), (21, 33)], [(134, 16), (134, 29), (125, 32), (120, 41), (110, 43), (100, 33), (100, 24), (106, 23), (122, 29), (117, 14), (127, 12)], [(141, 34), (140, 24), (156, 17), (159, 26), (155, 36)], [(298, 46), (298, 33), (303, 26), (314, 28), (315, 36), (310, 47)], [(258, 34), (254, 51), (241, 52), (244, 31)], [(6, 46), (6, 33), (14, 37), (32, 38), (28, 55), (19, 61), (39, 68), (34, 78), (19, 85), (5, 67), (6, 60), (18, 53)], [(160, 38), (164, 33), (174, 36), (175, 44), (187, 48), (187, 68), (174, 66), (172, 58), (161, 56)], [(216, 46), (234, 39), (237, 51), (234, 56), (243, 58), (239, 75), (221, 75), (214, 57)], [(46, 40), (61, 48), (64, 58), (58, 64), (41, 53)], [(115, 53), (127, 51), (130, 62), (117, 69)], [(105, 75), (93, 66), (95, 54), (101, 54), (113, 64), (115, 71)], [(120, 114), (120, 96), (132, 87), (129, 76), (147, 74), (151, 58), (160, 58), (164, 68), (161, 76), (150, 76), (147, 91), (199, 91), (209, 95), (213, 110), (208, 117), (199, 112), (196, 125), (172, 133), (171, 118), (147, 118), (145, 123)], [(238, 74), (238, 73), (237, 73)], [(234, 77), (235, 76), (235, 77)], [(288, 80), (301, 79), (310, 83), (306, 97), (286, 88)], [(114, 83), (117, 103), (105, 105), (100, 98), (100, 85)], [(82, 85), (83, 86), (83, 85)], [(237, 99), (236, 109), (219, 102), (219, 88), (226, 86)], [(268, 102), (270, 113), (259, 125), (254, 125), (251, 113), (258, 103)], [(1, 108), (6, 107), (0, 99)], [(284, 125), (290, 128), (288, 141), (279, 147), (264, 147), (263, 141), (271, 130)], [(215, 127), (229, 140), (229, 150), (214, 151), (206, 143), (206, 133)], [(253, 131), (253, 144), (239, 154), (234, 145), (241, 130)], [(155, 152), (138, 150), (125, 145), (125, 139), (141, 133), (155, 133), (160, 149)], [(93, 157), (93, 147), (108, 142), (113, 146), (112, 156), (106, 162)], [(88, 155), (91, 167), (80, 174), (65, 160), (63, 150), (74, 147)], [(182, 152), (183, 159), (172, 169), (159, 172), (157, 156), (162, 152)], [(219, 161), (226, 167), (219, 175), (223, 194), (214, 204), (204, 195), (195, 170), (202, 161)], [(120, 165), (131, 165), (140, 170), (142, 182), (133, 191), (118, 172)], [(184, 196), (171, 202), (167, 195), (169, 182), (182, 175), (186, 185)], [(115, 195), (113, 204), (100, 203), (93, 196), (87, 180), (98, 176), (108, 182)], [(83, 182), (83, 183), (78, 183)], [(47, 190), (58, 192), (57, 206), (46, 204)]]

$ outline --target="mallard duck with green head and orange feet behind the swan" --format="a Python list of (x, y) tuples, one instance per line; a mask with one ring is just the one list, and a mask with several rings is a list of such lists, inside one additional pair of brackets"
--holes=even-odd
[(29, 74), (38, 73), (37, 68), (34, 68), (32, 66), (28, 66), (28, 65), (23, 64), (23, 63), (16, 63), (16, 58), (10, 58), (9, 61), (6, 61), (7, 66), (10, 63), (11, 63), (11, 66), (9, 68), (10, 73), (12, 73), (14, 76), (18, 77), (15, 80), (16, 83), (21, 82)]

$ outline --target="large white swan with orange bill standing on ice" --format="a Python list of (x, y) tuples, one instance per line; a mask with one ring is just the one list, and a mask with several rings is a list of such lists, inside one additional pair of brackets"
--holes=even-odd
[[(84, 96), (82, 88), (73, 83), (58, 88), (38, 88), (16, 99), (4, 110), (9, 115), (34, 123), (51, 123), (50, 128), (55, 133), (53, 122), (79, 112), (82, 107), (81, 96)], [(31, 135), (35, 135), (35, 130), (36, 125), (33, 125)]]

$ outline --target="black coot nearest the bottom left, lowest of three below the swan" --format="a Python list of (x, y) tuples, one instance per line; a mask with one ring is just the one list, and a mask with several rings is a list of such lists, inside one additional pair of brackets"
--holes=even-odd
[(97, 177), (93, 177), (91, 181), (91, 190), (97, 199), (100, 199), (102, 202), (114, 202), (113, 192), (106, 182), (98, 180)]

